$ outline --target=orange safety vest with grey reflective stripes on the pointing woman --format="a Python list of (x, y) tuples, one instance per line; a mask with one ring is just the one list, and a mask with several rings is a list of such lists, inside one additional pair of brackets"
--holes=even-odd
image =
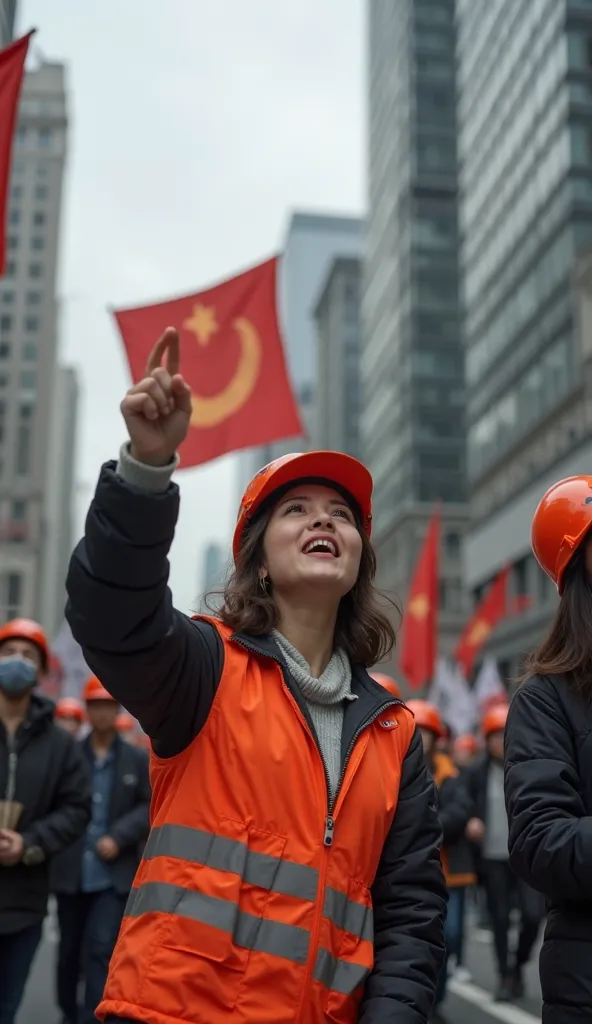
[(97, 1017), (353, 1024), (413, 716), (390, 706), (362, 730), (329, 818), (323, 760), (280, 665), (210, 621), (222, 677), (189, 746), (152, 755), (152, 831)]

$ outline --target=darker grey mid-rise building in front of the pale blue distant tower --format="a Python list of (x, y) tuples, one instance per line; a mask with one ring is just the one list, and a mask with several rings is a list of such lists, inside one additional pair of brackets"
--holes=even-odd
[(314, 317), (318, 339), (314, 447), (360, 458), (362, 261), (337, 256)]

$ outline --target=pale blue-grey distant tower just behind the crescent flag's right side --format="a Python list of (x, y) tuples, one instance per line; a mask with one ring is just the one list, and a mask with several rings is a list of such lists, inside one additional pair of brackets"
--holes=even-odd
[(356, 217), (297, 212), (290, 219), (280, 266), (280, 321), (305, 436), (287, 438), (242, 453), (238, 476), (241, 496), (245, 485), (265, 463), (288, 452), (309, 447), (315, 430), (318, 368), (314, 304), (335, 256), (356, 256), (361, 238), (362, 221)]

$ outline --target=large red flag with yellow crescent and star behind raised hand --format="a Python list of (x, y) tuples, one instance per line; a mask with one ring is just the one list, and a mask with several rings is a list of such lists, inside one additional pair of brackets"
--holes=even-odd
[(205, 292), (115, 313), (134, 383), (165, 328), (179, 331), (194, 399), (180, 449), (185, 469), (302, 434), (278, 325), (277, 273), (274, 258)]

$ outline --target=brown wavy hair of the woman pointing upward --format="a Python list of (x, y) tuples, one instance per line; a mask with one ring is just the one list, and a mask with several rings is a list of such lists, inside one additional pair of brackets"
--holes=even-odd
[[(223, 591), (218, 592), (218, 596), (220, 593), (222, 596), (222, 605), (218, 604), (217, 608), (209, 605), (224, 625), (237, 633), (263, 636), (279, 625), (272, 589), (264, 591), (259, 580), (263, 539), (271, 512), (272, 506), (262, 509), (246, 528), (232, 574)], [(335, 646), (343, 648), (353, 664), (369, 668), (387, 657), (395, 645), (395, 629), (381, 611), (379, 598), (383, 597), (395, 609), (397, 617), (400, 617), (400, 610), (395, 601), (380, 594), (374, 586), (376, 555), (362, 529), (360, 535), (360, 571), (352, 589), (339, 603)]]

